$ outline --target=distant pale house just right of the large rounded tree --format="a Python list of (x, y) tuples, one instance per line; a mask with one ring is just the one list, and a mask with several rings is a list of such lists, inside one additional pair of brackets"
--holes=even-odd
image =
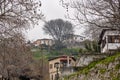
[(68, 48), (83, 47), (82, 42), (85, 40), (85, 37), (80, 35), (68, 34), (64, 36), (64, 43)]

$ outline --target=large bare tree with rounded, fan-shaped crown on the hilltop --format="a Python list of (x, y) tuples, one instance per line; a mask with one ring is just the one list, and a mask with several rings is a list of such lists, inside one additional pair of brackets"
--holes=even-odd
[[(62, 19), (55, 19), (45, 23), (43, 30), (51, 35), (59, 48), (62, 46), (64, 36), (73, 34), (73, 25)], [(61, 46), (60, 46), (61, 45)]]

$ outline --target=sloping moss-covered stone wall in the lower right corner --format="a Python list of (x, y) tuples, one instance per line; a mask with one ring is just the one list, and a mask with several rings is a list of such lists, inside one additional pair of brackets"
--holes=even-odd
[(65, 80), (120, 80), (120, 53), (92, 62)]

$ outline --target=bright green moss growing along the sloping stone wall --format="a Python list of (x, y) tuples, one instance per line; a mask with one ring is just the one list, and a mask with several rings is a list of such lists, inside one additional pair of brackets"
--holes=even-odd
[[(107, 58), (105, 58), (105, 59), (103, 59), (103, 60), (94, 61), (94, 62), (90, 63), (88, 66), (86, 66), (85, 68), (80, 69), (78, 72), (75, 72), (75, 73), (73, 73), (73, 74), (71, 74), (71, 75), (69, 75), (69, 76), (66, 76), (65, 79), (66, 79), (66, 80), (69, 80), (70, 78), (75, 77), (75, 76), (78, 76), (78, 75), (80, 75), (80, 74), (85, 74), (85, 75), (87, 75), (92, 68), (95, 68), (95, 67), (96, 67), (96, 65), (98, 65), (98, 64), (108, 65), (109, 63), (115, 61), (115, 59), (116, 59), (116, 58), (119, 58), (119, 57), (120, 57), (120, 52), (117, 53), (117, 54), (115, 54), (115, 55), (113, 55), (113, 56), (109, 56), (109, 57), (107, 57)], [(120, 65), (117, 64), (115, 68), (116, 68), (116, 69), (119, 69), (119, 68), (120, 68)], [(106, 71), (106, 69), (104, 69), (104, 68), (103, 68), (103, 69), (100, 69), (100, 72), (101, 72), (102, 74), (103, 74), (105, 71)], [(118, 78), (114, 78), (113, 80), (119, 80), (119, 79), (118, 79)]]

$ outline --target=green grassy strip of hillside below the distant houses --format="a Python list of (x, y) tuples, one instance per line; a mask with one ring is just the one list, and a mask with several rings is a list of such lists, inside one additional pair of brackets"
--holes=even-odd
[(74, 56), (78, 56), (79, 55), (79, 48), (71, 48), (71, 49), (67, 49), (64, 48), (61, 51), (59, 50), (48, 50), (48, 49), (39, 49), (39, 48), (33, 48), (32, 52), (33, 52), (33, 58), (34, 59), (41, 59), (42, 57), (49, 59), (51, 57), (56, 57), (59, 55), (74, 55)]

